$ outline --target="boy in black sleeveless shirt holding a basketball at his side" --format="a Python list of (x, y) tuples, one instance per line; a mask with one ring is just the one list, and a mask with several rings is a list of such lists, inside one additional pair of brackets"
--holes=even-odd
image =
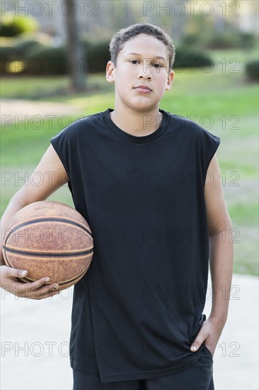
[[(52, 138), (36, 168), (46, 180), (13, 196), (2, 228), (64, 182), (91, 226), (93, 261), (74, 286), (74, 390), (212, 390), (233, 262), (214, 155), (220, 139), (159, 108), (171, 89), (175, 55), (161, 28), (122, 29), (110, 53), (106, 79), (115, 83), (115, 109)], [(46, 172), (56, 172), (51, 186)], [(208, 260), (213, 298), (205, 321)], [(1, 286), (33, 299), (56, 294), (53, 285), (43, 286), (45, 278), (19, 283), (21, 271), (3, 265)]]

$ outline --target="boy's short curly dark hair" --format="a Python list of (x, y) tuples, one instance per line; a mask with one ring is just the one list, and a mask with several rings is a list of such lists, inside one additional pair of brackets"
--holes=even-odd
[(135, 23), (127, 28), (122, 28), (117, 31), (113, 38), (110, 40), (110, 60), (113, 64), (117, 65), (117, 56), (120, 50), (123, 49), (127, 40), (134, 38), (139, 34), (152, 35), (155, 38), (161, 40), (165, 45), (169, 53), (169, 70), (173, 67), (175, 60), (175, 46), (171, 40), (171, 37), (166, 34), (160, 27), (154, 26), (151, 23)]

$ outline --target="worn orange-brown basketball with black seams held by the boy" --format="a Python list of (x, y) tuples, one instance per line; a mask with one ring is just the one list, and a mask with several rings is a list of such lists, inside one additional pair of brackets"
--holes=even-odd
[(3, 255), (7, 266), (28, 270), (23, 282), (50, 277), (46, 284), (58, 283), (63, 290), (86, 274), (93, 258), (93, 237), (74, 208), (38, 201), (21, 208), (9, 221)]

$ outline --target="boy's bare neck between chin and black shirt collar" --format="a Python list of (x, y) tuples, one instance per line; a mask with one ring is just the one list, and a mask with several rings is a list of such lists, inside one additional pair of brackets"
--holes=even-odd
[(162, 121), (163, 114), (158, 107), (149, 111), (135, 111), (131, 108), (115, 108), (110, 118), (121, 130), (136, 137), (149, 135), (156, 131)]

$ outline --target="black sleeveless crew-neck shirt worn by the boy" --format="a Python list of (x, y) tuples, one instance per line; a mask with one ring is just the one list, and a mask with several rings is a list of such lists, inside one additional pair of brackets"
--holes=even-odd
[(51, 139), (94, 240), (91, 266), (74, 286), (71, 367), (100, 373), (103, 383), (163, 377), (200, 357), (190, 345), (207, 291), (205, 179), (220, 143), (161, 109), (154, 133), (130, 135), (111, 111)]

